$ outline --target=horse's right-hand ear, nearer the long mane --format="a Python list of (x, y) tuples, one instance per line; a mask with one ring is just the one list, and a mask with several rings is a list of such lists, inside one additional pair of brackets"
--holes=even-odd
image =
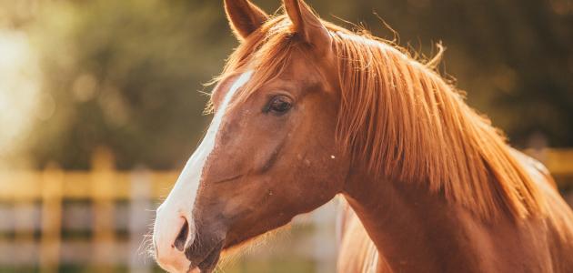
[(286, 14), (293, 23), (294, 30), (310, 45), (319, 50), (329, 50), (332, 36), (320, 18), (303, 0), (283, 0)]

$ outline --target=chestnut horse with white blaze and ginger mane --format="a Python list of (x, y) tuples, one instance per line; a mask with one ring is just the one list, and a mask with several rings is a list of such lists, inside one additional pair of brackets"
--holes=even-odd
[(302, 0), (226, 0), (239, 45), (206, 135), (156, 210), (157, 263), (212, 272), (340, 196), (340, 272), (573, 272), (573, 212), (548, 170), (397, 45)]

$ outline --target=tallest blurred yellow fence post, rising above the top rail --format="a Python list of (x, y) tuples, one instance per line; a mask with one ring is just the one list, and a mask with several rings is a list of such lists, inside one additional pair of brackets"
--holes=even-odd
[(108, 271), (116, 256), (115, 241), (115, 160), (106, 147), (95, 149), (92, 158), (94, 257), (98, 270)]

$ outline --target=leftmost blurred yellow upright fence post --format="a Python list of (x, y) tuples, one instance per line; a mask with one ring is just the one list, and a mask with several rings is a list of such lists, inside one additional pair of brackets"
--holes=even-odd
[(41, 272), (57, 272), (60, 262), (62, 227), (62, 184), (64, 172), (49, 164), (42, 174)]

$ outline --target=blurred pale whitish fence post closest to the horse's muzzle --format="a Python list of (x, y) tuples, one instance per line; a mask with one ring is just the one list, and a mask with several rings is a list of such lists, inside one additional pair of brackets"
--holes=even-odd
[[(149, 253), (151, 238), (146, 234), (151, 223), (152, 214), (152, 185), (148, 170), (143, 167), (136, 168), (131, 175), (129, 202), (129, 271), (151, 272)], [(148, 264), (146, 264), (149, 262)]]

